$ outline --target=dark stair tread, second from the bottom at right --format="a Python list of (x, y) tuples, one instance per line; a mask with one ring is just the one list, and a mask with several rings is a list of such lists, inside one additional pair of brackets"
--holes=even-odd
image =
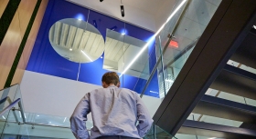
[(256, 107), (204, 95), (193, 113), (256, 124)]

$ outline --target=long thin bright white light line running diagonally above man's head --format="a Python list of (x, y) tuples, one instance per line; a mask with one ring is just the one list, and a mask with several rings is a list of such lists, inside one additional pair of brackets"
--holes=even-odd
[(167, 18), (167, 20), (166, 20), (166, 22), (164, 23), (164, 25), (162, 25), (162, 26), (158, 29), (158, 31), (155, 33), (155, 35), (153, 35), (152, 38), (144, 45), (143, 49), (133, 58), (132, 62), (123, 70), (123, 73), (120, 74), (119, 77), (121, 77), (121, 76), (133, 65), (133, 63), (137, 60), (137, 58), (138, 58), (140, 55), (142, 55), (142, 53), (143, 53), (144, 50), (147, 48), (147, 46), (148, 46), (149, 44), (151, 44), (151, 43), (154, 41), (155, 36), (158, 35), (158, 34), (161, 32), (161, 30), (165, 27), (166, 23), (167, 23), (174, 15), (176, 15), (176, 12), (181, 8), (182, 5), (185, 4), (186, 1), (187, 1), (187, 0), (182, 1), (182, 3), (176, 7), (176, 10)]

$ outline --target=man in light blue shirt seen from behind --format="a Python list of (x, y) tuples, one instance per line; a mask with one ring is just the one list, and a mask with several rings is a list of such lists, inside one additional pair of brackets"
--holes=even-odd
[[(129, 89), (119, 88), (119, 76), (114, 72), (103, 74), (101, 82), (103, 88), (85, 94), (71, 115), (72, 133), (77, 139), (142, 138), (153, 120), (141, 98)], [(90, 112), (91, 137), (84, 124)]]

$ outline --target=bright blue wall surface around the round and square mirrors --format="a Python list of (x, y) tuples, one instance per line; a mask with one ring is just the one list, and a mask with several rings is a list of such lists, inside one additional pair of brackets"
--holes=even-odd
[[(67, 9), (69, 10), (67, 11)], [(84, 21), (88, 21), (100, 31), (104, 39), (106, 37), (106, 29), (111, 29), (112, 27), (115, 28), (114, 31), (116, 32), (123, 33), (123, 30), (125, 30), (126, 35), (143, 40), (144, 42), (147, 42), (154, 35), (152, 32), (124, 23), (123, 21), (119, 21), (110, 16), (101, 15), (100, 13), (91, 11), (87, 8), (81, 7), (80, 5), (74, 5), (63, 0), (50, 0), (48, 1), (48, 7), (27, 65), (28, 71), (77, 80), (80, 68), (78, 79), (80, 82), (101, 85), (101, 75), (107, 72), (107, 70), (102, 69), (103, 58), (99, 58), (92, 63), (80, 65), (63, 58), (57, 54), (50, 45), (48, 40), (50, 27), (59, 20), (65, 18), (80, 18)], [(149, 45), (148, 54), (150, 55), (150, 70), (152, 70), (156, 60), (155, 43)], [(122, 87), (141, 93), (146, 80), (124, 74), (121, 82)], [(159, 92), (157, 82), (157, 74), (155, 74), (154, 79), (151, 84), (149, 84), (145, 94), (159, 97), (159, 94), (152, 93)]]

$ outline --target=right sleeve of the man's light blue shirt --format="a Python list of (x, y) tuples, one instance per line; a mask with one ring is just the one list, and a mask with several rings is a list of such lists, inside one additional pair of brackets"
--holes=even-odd
[(144, 135), (147, 133), (147, 131), (150, 129), (151, 125), (153, 124), (153, 119), (151, 118), (151, 115), (147, 111), (144, 102), (142, 99), (136, 94), (136, 100), (137, 100), (137, 118), (139, 124), (137, 125), (138, 134), (141, 137), (144, 137)]

